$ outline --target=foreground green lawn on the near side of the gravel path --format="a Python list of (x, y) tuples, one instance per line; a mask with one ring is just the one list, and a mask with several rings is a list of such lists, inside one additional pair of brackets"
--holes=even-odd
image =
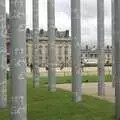
[[(0, 111), (0, 120), (8, 120), (8, 109)], [(28, 120), (114, 120), (114, 104), (90, 96), (74, 103), (70, 92), (51, 93), (43, 85), (33, 89), (29, 81)]]

